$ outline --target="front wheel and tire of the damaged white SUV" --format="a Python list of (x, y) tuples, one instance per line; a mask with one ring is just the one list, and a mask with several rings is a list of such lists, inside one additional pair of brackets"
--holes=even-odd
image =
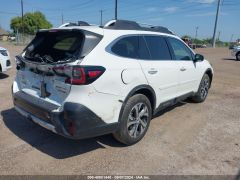
[(195, 94), (195, 96), (192, 97), (192, 100), (196, 103), (204, 102), (207, 98), (210, 84), (211, 82), (209, 76), (207, 74), (204, 74), (199, 85), (198, 92)]

